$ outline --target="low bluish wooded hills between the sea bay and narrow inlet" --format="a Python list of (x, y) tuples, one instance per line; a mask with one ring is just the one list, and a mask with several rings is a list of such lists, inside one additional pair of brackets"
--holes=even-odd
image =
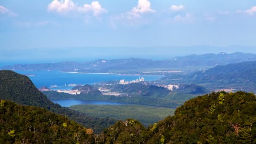
[[(48, 99), (81, 99), (97, 101), (115, 101), (132, 104), (146, 104), (160, 107), (178, 107), (188, 99), (195, 97), (198, 93), (207, 93), (208, 91), (198, 85), (179, 85), (179, 89), (170, 91), (167, 88), (151, 85), (147, 82), (131, 83), (128, 85), (104, 85), (112, 92), (126, 93), (123, 96), (103, 95), (97, 88), (99, 85), (85, 85), (79, 87), (81, 94), (71, 95), (67, 93), (58, 93), (56, 91), (44, 91)], [(128, 96), (127, 96), (128, 95)]]

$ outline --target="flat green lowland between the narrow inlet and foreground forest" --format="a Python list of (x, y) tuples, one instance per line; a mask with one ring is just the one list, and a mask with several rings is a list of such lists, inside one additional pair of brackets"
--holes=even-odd
[(102, 118), (111, 117), (117, 120), (133, 118), (139, 120), (145, 126), (157, 123), (169, 115), (174, 115), (175, 111), (171, 108), (143, 105), (75, 105), (69, 108)]

